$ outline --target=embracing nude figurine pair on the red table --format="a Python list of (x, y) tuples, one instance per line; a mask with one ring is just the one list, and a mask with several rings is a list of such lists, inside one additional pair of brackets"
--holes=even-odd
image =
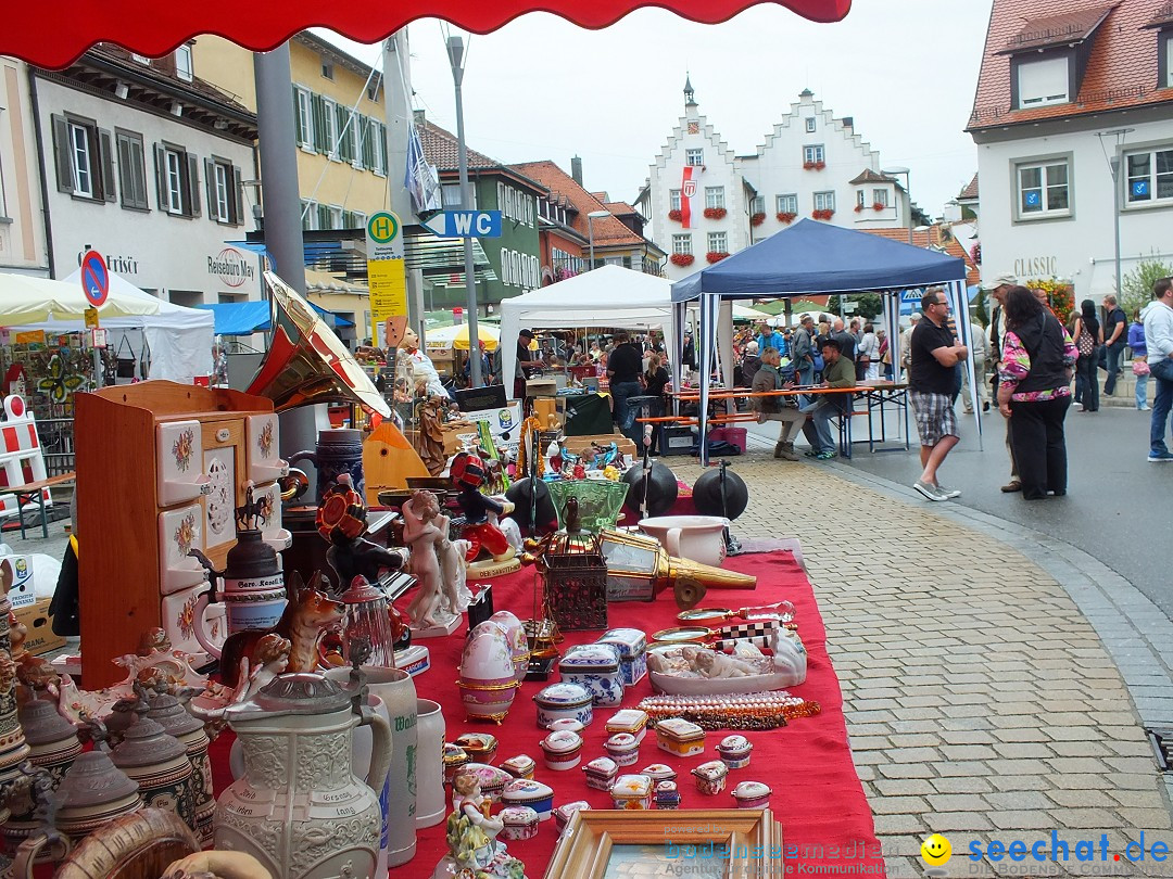
[(402, 512), (404, 540), (412, 548), (408, 570), (419, 585), (407, 615), (415, 629), (447, 626), (457, 613), (459, 600), (457, 572), (445, 571), (440, 564), (452, 551), (448, 517), (440, 512), (436, 496), (425, 490), (413, 492)]

